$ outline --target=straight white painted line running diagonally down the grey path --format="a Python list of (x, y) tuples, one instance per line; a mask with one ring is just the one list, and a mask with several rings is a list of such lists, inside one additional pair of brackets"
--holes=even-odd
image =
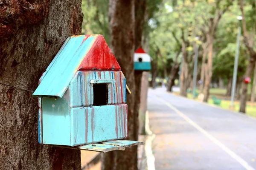
[(230, 150), (228, 147), (226, 147), (224, 144), (222, 144), (218, 139), (210, 135), (206, 130), (204, 130), (202, 127), (200, 127), (198, 124), (196, 124), (194, 121), (189, 119), (185, 114), (180, 112), (177, 108), (175, 108), (173, 105), (171, 105), (169, 102), (166, 102), (165, 100), (161, 99), (157, 96), (157, 99), (163, 102), (165, 105), (167, 105), (169, 108), (174, 110), (179, 116), (181, 116), (183, 119), (185, 119), (190, 125), (194, 126), (198, 131), (203, 133), (208, 139), (210, 139), (213, 143), (217, 144), (222, 150), (224, 150), (228, 155), (230, 155), (233, 159), (238, 161), (246, 170), (255, 170), (253, 167), (251, 167), (244, 159), (242, 159), (240, 156), (238, 156), (236, 153), (234, 153), (232, 150)]

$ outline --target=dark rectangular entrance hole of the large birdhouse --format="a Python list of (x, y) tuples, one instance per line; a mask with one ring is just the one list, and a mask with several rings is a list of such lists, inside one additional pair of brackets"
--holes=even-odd
[(108, 84), (93, 85), (93, 105), (103, 106), (108, 103)]

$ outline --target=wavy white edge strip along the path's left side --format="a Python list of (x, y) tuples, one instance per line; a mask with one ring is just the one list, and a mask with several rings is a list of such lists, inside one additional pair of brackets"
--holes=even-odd
[(149, 128), (148, 111), (146, 111), (146, 115), (145, 115), (145, 131), (147, 135), (149, 135), (145, 141), (145, 154), (147, 158), (147, 167), (148, 167), (148, 170), (155, 170), (155, 165), (154, 165), (155, 158), (152, 152), (152, 142), (155, 138), (155, 134)]

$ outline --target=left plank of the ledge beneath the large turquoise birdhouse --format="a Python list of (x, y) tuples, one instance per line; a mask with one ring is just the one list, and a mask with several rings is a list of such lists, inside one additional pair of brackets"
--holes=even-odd
[(121, 146), (111, 146), (108, 144), (87, 144), (83, 146), (79, 146), (81, 150), (93, 150), (98, 152), (109, 152), (113, 150), (125, 150), (125, 147)]

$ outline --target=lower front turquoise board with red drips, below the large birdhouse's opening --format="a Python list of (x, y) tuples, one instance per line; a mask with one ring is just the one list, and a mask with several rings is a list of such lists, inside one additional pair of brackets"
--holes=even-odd
[(128, 136), (126, 104), (71, 108), (70, 115), (70, 146), (124, 139)]

